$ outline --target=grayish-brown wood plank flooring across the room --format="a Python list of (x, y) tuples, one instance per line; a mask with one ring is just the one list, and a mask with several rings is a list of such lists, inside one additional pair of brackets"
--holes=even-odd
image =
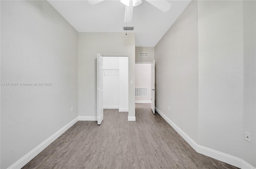
[(150, 104), (136, 104), (136, 122), (127, 116), (78, 121), (22, 169), (238, 169), (196, 153)]

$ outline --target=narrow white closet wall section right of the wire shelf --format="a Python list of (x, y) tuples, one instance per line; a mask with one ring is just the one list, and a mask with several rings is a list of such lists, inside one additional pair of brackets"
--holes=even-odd
[(119, 57), (119, 112), (128, 112), (129, 109), (128, 59), (128, 57)]

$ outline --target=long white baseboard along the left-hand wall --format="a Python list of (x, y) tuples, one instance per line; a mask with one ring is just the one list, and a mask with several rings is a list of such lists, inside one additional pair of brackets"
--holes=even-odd
[(50, 143), (52, 143), (54, 140), (56, 140), (60, 135), (62, 135), (64, 132), (66, 132), (71, 126), (73, 126), (78, 121), (78, 117), (69, 122), (66, 126), (58, 130), (58, 132), (54, 133), (52, 136), (50, 136), (48, 139), (46, 139), (44, 142), (39, 144), (37, 147), (32, 149), (29, 153), (24, 155), (21, 159), (16, 161), (13, 165), (8, 167), (8, 169), (21, 169), (24, 165), (26, 165), (30, 160), (32, 160), (36, 155), (38, 155), (43, 149), (45, 149)]

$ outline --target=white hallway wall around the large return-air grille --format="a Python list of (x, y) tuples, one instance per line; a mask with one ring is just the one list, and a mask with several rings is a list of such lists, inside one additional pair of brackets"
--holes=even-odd
[(135, 102), (151, 103), (151, 64), (135, 64), (135, 87), (148, 87), (148, 97), (135, 97)]

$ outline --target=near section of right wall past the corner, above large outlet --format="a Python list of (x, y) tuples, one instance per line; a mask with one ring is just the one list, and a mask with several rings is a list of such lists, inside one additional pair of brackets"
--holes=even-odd
[(198, 1), (198, 32), (198, 143), (255, 167), (255, 1)]

